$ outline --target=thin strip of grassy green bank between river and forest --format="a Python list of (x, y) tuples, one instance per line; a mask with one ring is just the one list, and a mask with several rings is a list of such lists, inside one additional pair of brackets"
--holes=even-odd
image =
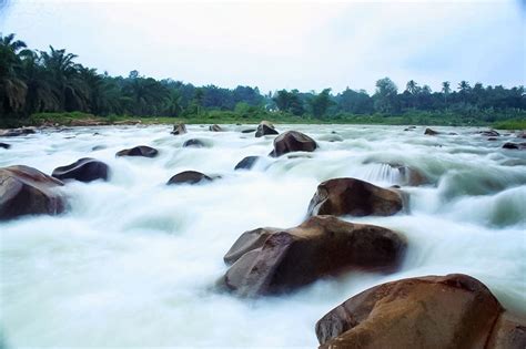
[(498, 130), (526, 130), (525, 117), (496, 122), (478, 120), (475, 116), (454, 115), (451, 113), (412, 113), (404, 115), (351, 115), (342, 114), (330, 119), (296, 116), (289, 113), (259, 112), (240, 114), (231, 111), (208, 111), (201, 114), (190, 114), (180, 117), (152, 116), (136, 117), (129, 115), (97, 116), (93, 114), (71, 113), (39, 113), (24, 120), (0, 119), (0, 127), (64, 125), (81, 126), (93, 124), (257, 124), (269, 120), (276, 124), (377, 124), (377, 125), (437, 125), (437, 126), (487, 126)]

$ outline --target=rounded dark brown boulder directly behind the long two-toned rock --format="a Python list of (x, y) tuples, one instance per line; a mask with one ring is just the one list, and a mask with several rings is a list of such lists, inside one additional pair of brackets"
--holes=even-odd
[(317, 186), (307, 215), (391, 216), (403, 208), (403, 202), (399, 191), (356, 178), (334, 178)]

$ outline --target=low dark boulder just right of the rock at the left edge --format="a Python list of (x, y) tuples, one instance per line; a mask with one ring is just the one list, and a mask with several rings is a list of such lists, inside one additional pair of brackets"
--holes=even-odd
[(108, 181), (110, 167), (101, 161), (83, 157), (71, 165), (57, 167), (51, 174), (61, 181), (77, 179), (80, 182), (92, 182), (97, 179)]

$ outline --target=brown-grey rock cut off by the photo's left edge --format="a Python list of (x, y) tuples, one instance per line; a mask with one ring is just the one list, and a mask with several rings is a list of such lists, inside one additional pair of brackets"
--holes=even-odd
[(54, 191), (63, 183), (29, 166), (0, 168), (0, 220), (22, 215), (54, 215), (64, 211), (63, 197)]

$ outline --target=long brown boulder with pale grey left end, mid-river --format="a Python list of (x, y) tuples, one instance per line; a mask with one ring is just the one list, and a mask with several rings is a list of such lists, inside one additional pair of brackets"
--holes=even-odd
[(234, 264), (222, 283), (239, 295), (255, 296), (294, 290), (345, 270), (391, 271), (405, 246), (390, 229), (316, 216), (290, 229), (245, 232), (224, 257)]

